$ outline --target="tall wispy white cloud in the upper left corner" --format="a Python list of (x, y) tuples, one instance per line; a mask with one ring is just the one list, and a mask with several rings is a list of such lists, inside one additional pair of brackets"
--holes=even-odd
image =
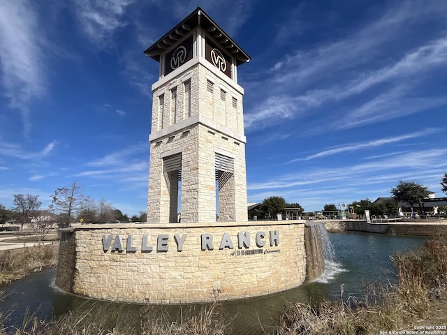
[(27, 0), (0, 3), (1, 84), (10, 107), (22, 114), (24, 133), (31, 129), (29, 101), (46, 91), (45, 31), (39, 29), (34, 5)]

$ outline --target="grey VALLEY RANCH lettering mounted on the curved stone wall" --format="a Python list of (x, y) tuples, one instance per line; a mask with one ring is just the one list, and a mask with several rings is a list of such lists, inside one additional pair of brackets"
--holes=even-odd
[[(268, 236), (268, 237), (267, 237)], [(156, 252), (168, 252), (168, 241), (173, 238), (175, 244), (177, 245), (177, 252), (181, 252), (183, 250), (183, 245), (187, 240), (187, 234), (174, 234), (174, 236), (170, 236), (168, 234), (159, 234), (156, 237), (156, 246), (149, 245), (149, 234), (142, 235), (141, 246), (138, 249), (137, 246), (133, 245), (133, 235), (127, 235), (124, 237), (127, 239), (126, 248), (124, 248), (123, 236), (122, 235), (114, 235), (108, 234), (103, 235), (103, 251), (107, 253), (110, 251), (111, 253), (119, 252), (122, 253), (126, 250), (126, 253), (136, 253), (140, 251), (141, 253), (151, 253), (152, 251)], [(214, 237), (210, 233), (203, 233), (200, 235), (200, 248), (202, 251), (212, 251), (214, 250)], [(256, 232), (254, 237), (254, 242), (258, 249), (251, 250), (240, 250), (235, 251), (232, 255), (256, 255), (259, 253), (271, 253), (272, 251), (263, 252), (262, 248), (269, 242), (270, 246), (279, 246), (279, 232), (278, 230), (270, 230), (268, 235), (265, 232)], [(186, 241), (187, 243), (187, 241)], [(251, 238), (249, 232), (238, 232), (237, 233), (237, 248), (239, 249), (248, 249), (251, 245)], [(230, 237), (228, 232), (225, 232), (220, 240), (219, 250), (223, 250), (228, 248), (230, 250), (234, 249), (235, 246), (233, 244), (233, 240)], [(275, 252), (279, 252), (277, 249)]]

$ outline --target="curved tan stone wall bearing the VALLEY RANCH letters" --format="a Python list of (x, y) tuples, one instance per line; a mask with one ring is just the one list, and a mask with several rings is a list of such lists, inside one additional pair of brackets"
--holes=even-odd
[(267, 295), (305, 281), (304, 233), (304, 221), (76, 225), (62, 231), (56, 283), (153, 304)]

